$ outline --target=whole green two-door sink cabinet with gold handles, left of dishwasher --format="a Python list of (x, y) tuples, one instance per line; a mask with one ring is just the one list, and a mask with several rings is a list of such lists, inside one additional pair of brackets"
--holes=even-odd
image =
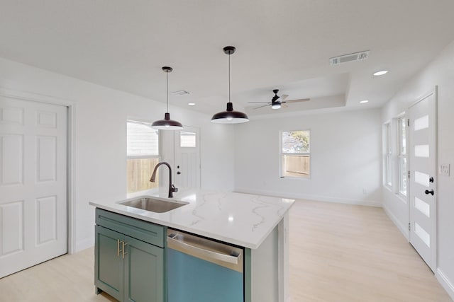
[(165, 227), (96, 209), (95, 285), (118, 301), (165, 301)]

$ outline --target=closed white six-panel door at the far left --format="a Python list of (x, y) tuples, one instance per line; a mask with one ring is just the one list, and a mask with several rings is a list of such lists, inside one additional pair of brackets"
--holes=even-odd
[(0, 96), (0, 277), (67, 252), (67, 108)]

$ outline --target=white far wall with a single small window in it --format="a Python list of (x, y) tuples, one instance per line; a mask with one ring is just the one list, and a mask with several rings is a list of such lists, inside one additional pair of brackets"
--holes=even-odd
[[(279, 178), (279, 131), (311, 130), (311, 178)], [(381, 204), (380, 110), (253, 120), (236, 126), (235, 190)]]

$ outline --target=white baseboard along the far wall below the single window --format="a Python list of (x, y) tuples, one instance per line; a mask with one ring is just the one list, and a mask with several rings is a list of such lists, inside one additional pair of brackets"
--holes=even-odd
[(260, 195), (291, 198), (291, 199), (315, 200), (317, 202), (336, 202), (338, 204), (356, 204), (356, 205), (361, 205), (361, 206), (382, 207), (382, 202), (376, 202), (374, 200), (365, 200), (365, 199), (348, 199), (348, 198), (341, 198), (341, 197), (328, 197), (328, 196), (312, 195), (312, 194), (285, 194), (285, 193), (282, 194), (282, 192), (255, 191), (255, 190), (248, 190), (245, 188), (236, 188), (235, 192), (247, 193), (247, 194), (260, 194)]

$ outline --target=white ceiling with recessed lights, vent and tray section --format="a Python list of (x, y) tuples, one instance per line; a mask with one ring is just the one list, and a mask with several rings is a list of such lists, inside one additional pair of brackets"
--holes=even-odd
[[(452, 0), (0, 0), (0, 57), (214, 114), (380, 107), (454, 40)], [(368, 59), (329, 58), (370, 50)], [(372, 73), (388, 69), (382, 77)], [(269, 101), (284, 110), (246, 108)], [(360, 105), (360, 100), (370, 100)], [(255, 106), (256, 107), (256, 106)]]

